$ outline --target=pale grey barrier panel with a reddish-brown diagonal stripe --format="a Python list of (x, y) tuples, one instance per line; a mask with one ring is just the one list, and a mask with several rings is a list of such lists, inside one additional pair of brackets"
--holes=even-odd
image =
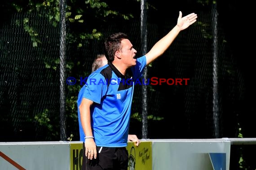
[(69, 142), (0, 142), (0, 170), (70, 170), (70, 160)]

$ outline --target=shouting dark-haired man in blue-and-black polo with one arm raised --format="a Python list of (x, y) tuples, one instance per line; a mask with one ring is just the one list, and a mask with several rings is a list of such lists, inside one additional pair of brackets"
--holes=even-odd
[[(160, 39), (151, 50), (137, 59), (128, 36), (110, 35), (104, 43), (108, 64), (88, 76), (78, 95), (79, 122), (84, 130), (83, 168), (86, 170), (127, 170), (126, 150), (134, 81), (146, 65), (157, 59), (172, 44), (181, 30), (196, 21), (191, 13)], [(85, 165), (84, 165), (85, 164)]]

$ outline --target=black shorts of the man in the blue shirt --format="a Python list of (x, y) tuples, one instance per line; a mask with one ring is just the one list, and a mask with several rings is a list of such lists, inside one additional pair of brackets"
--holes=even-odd
[(127, 170), (128, 151), (126, 147), (110, 148), (97, 146), (97, 158), (85, 157), (83, 143), (82, 170)]

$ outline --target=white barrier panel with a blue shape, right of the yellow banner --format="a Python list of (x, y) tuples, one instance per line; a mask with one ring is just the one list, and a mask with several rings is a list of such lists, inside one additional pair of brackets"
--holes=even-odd
[(229, 170), (230, 141), (155, 140), (153, 170)]

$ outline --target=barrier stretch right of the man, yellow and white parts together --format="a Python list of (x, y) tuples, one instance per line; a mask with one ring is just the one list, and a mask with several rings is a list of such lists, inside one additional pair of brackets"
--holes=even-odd
[(128, 170), (229, 170), (230, 146), (228, 138), (141, 140), (127, 146)]

